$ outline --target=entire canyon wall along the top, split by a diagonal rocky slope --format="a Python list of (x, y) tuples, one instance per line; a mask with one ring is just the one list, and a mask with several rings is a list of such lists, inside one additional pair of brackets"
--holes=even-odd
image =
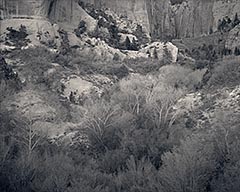
[[(216, 31), (218, 20), (236, 13), (239, 0), (186, 0), (171, 5), (170, 0), (82, 0), (96, 8), (109, 8), (143, 26), (154, 39), (198, 37)], [(69, 28), (91, 18), (76, 0), (0, 0), (1, 19), (44, 17)], [(92, 25), (90, 25), (92, 26)]]

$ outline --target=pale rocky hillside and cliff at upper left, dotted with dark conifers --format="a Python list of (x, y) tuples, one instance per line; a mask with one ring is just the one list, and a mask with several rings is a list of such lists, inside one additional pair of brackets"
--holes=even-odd
[[(145, 18), (140, 12), (137, 15)], [(171, 61), (177, 60), (177, 48), (171, 43), (149, 44), (144, 23), (133, 22), (111, 10), (99, 10), (89, 3), (1, 1), (1, 19), (4, 42), (1, 49), (14, 48), (18, 41), (14, 38), (24, 28), (28, 39), (25, 46), (44, 45), (59, 51), (63, 44), (68, 44), (81, 54), (104, 60), (148, 57), (163, 60), (167, 54)]]

